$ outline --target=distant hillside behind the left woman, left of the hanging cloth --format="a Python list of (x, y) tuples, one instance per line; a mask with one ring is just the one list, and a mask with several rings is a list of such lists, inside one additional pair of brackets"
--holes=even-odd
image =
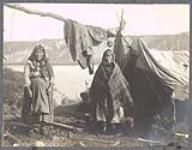
[(47, 50), (51, 63), (54, 64), (74, 64), (69, 50), (63, 39), (44, 39), (37, 42), (5, 42), (4, 57), (7, 64), (24, 63), (33, 48), (37, 44), (42, 44)]

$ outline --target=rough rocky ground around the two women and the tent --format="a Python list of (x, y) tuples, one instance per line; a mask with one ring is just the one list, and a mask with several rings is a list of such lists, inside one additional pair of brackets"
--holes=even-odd
[[(88, 122), (88, 104), (80, 100), (70, 100), (64, 95), (62, 105), (55, 108), (55, 121), (73, 127), (81, 128), (81, 131), (70, 131), (63, 127), (36, 125), (33, 127), (22, 123), (20, 119), (21, 101), (23, 96), (22, 73), (13, 72), (4, 68), (4, 145), (9, 146), (95, 146), (95, 147), (149, 147), (151, 145), (167, 145), (175, 141), (171, 130), (153, 125), (147, 128), (129, 129), (127, 124), (120, 126), (114, 132), (101, 133), (90, 127)], [(182, 88), (183, 89), (183, 88)], [(186, 97), (184, 92), (177, 91), (180, 96)], [(59, 92), (55, 90), (57, 97)], [(183, 95), (182, 95), (183, 94)], [(79, 101), (79, 100), (78, 100)], [(187, 143), (187, 124), (185, 106), (187, 103), (177, 102), (177, 113), (180, 122), (177, 123), (177, 132), (182, 143)], [(143, 124), (145, 124), (143, 122)], [(155, 137), (155, 138), (154, 138)], [(143, 139), (144, 138), (144, 139)], [(146, 139), (153, 139), (149, 141)], [(174, 144), (173, 144), (174, 145)], [(185, 144), (186, 145), (186, 144)]]

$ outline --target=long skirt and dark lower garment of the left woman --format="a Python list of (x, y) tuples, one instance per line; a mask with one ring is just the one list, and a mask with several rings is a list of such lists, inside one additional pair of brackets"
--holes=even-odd
[(53, 121), (53, 89), (48, 93), (47, 88), (48, 83), (42, 78), (34, 78), (30, 86), (32, 98), (27, 88), (24, 89), (22, 118), (25, 122)]

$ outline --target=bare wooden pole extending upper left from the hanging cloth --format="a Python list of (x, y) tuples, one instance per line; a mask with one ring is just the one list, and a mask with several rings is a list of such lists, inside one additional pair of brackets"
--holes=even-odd
[(25, 12), (27, 14), (31, 14), (31, 15), (38, 15), (38, 16), (41, 16), (41, 17), (50, 17), (50, 18), (53, 18), (53, 19), (60, 20), (62, 22), (66, 21), (66, 18), (64, 18), (63, 16), (60, 16), (60, 15), (57, 15), (57, 14), (54, 14), (54, 13), (50, 13), (50, 12), (42, 12), (42, 11), (32, 10), (32, 9), (28, 9), (28, 8), (25, 8), (25, 7), (22, 7), (22, 6), (19, 6), (19, 5), (6, 4), (5, 6), (9, 7), (9, 8), (13, 8), (13, 9), (23, 11), (23, 12)]

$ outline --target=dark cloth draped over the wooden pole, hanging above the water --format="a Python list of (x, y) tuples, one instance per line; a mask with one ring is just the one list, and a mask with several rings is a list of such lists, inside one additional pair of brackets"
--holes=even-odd
[(73, 61), (78, 61), (82, 69), (88, 67), (89, 73), (93, 74), (93, 46), (114, 35), (102, 28), (85, 26), (70, 19), (65, 21), (64, 33)]

